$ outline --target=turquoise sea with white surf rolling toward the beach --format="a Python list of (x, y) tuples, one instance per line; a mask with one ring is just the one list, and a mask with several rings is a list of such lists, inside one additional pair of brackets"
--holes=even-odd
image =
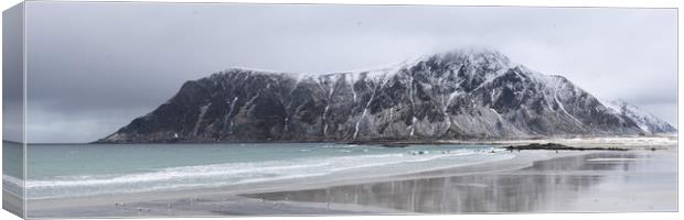
[[(300, 177), (403, 174), (511, 158), (488, 145), (29, 144), (26, 197), (63, 198), (231, 186)], [(6, 158), (7, 160), (7, 158)], [(21, 185), (3, 174), (3, 183)], [(8, 187), (15, 188), (19, 187)]]

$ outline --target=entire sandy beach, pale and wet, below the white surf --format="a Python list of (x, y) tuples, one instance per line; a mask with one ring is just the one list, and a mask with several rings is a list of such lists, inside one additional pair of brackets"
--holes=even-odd
[(28, 212), (93, 218), (676, 211), (676, 147), (634, 147), (522, 151), (511, 160), (391, 176), (34, 199)]

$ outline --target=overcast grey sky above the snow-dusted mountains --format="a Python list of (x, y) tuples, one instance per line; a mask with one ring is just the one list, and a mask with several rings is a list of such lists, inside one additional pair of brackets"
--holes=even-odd
[(475, 46), (676, 125), (676, 10), (26, 2), (29, 142), (90, 142), (234, 66), (380, 67)]

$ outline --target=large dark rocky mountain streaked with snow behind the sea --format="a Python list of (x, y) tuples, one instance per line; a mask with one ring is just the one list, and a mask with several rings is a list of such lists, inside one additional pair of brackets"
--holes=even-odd
[(630, 112), (498, 52), (460, 50), (360, 73), (228, 69), (186, 81), (169, 101), (99, 142), (432, 141), (672, 130)]

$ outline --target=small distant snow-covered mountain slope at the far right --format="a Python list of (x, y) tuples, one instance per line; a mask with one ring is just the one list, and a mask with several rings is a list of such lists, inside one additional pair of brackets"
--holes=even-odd
[(601, 102), (613, 111), (630, 118), (645, 133), (674, 133), (677, 131), (667, 122), (623, 100), (602, 100)]

